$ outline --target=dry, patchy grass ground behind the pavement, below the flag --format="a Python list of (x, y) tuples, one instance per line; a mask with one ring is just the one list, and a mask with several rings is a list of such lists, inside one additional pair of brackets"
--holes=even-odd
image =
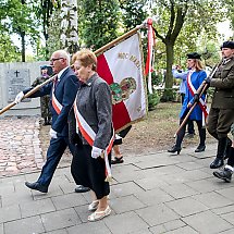
[[(121, 151), (126, 155), (152, 152), (167, 150), (174, 145), (174, 134), (178, 127), (178, 114), (181, 111), (180, 102), (159, 103), (148, 116), (133, 125), (128, 135), (124, 138)], [(183, 147), (198, 146), (198, 130), (195, 123), (196, 136), (194, 138), (184, 138)], [(207, 133), (207, 143), (215, 143)]]

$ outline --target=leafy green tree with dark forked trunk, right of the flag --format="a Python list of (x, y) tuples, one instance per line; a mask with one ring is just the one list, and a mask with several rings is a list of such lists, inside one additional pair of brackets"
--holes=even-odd
[[(199, 39), (206, 35), (207, 41), (217, 39), (217, 23), (225, 20), (225, 0), (156, 0), (153, 14), (159, 16), (156, 36), (164, 44), (167, 61), (165, 91), (162, 100), (171, 100), (173, 85), (172, 64), (183, 63), (186, 53), (198, 51)], [(161, 47), (163, 49), (163, 47)], [(208, 48), (199, 48), (206, 53)], [(157, 58), (158, 59), (158, 58)]]

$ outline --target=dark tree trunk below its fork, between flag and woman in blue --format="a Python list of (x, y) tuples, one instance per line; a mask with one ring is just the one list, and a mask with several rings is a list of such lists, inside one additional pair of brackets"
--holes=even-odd
[(174, 61), (174, 45), (171, 41), (167, 41), (165, 44), (167, 51), (167, 73), (165, 73), (165, 87), (163, 95), (161, 97), (161, 101), (173, 101), (173, 76), (172, 76), (172, 64)]

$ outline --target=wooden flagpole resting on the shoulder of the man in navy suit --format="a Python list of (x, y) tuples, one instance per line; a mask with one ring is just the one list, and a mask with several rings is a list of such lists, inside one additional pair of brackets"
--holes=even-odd
[[(98, 56), (100, 53), (102, 53), (103, 51), (106, 51), (107, 49), (113, 47), (115, 44), (120, 42), (121, 40), (131, 37), (132, 35), (134, 35), (137, 30), (139, 30), (140, 28), (143, 28), (145, 26), (145, 24), (140, 24), (137, 25), (135, 28), (133, 28), (132, 30), (125, 33), (124, 35), (118, 37), (116, 39), (112, 40), (111, 42), (107, 44), (106, 46), (101, 47), (100, 49), (95, 51), (95, 54)], [(73, 65), (71, 65), (71, 67), (73, 67)], [(40, 85), (36, 86), (35, 88), (33, 88), (30, 91), (28, 91), (27, 94), (24, 95), (23, 99), (28, 98), (30, 95), (33, 95), (34, 93), (36, 93), (37, 90), (39, 90), (42, 86), (47, 85), (48, 83), (52, 82), (54, 79), (56, 75), (53, 75), (51, 78), (47, 79), (46, 82), (41, 83)], [(22, 99), (22, 100), (23, 100)], [(4, 107), (3, 109), (0, 110), (0, 115), (2, 113), (4, 113), (5, 111), (8, 111), (9, 109), (11, 109), (12, 107), (14, 107), (16, 103), (13, 101), (10, 104), (8, 104), (7, 107)]]

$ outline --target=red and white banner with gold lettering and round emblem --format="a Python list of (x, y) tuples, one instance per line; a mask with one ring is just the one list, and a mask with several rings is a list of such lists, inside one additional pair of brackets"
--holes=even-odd
[(97, 72), (112, 90), (112, 120), (115, 131), (146, 115), (143, 53), (137, 33), (100, 54)]

